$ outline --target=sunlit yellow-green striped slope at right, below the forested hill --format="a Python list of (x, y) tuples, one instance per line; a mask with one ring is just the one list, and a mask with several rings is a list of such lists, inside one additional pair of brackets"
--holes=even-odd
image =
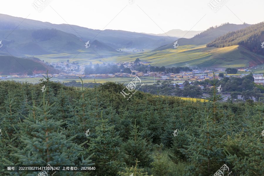
[(264, 63), (264, 57), (250, 52), (243, 46), (225, 48), (208, 48), (205, 45), (184, 45), (176, 49), (150, 51), (144, 53), (109, 57), (107, 62), (128, 62), (139, 58), (141, 61), (153, 62), (151, 66), (165, 67), (248, 67)]

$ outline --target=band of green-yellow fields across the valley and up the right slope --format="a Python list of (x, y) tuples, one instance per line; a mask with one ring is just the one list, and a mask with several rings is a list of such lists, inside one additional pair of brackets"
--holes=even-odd
[[(109, 55), (112, 55), (111, 57)], [(114, 55), (114, 56), (113, 56)], [(100, 53), (89, 53), (79, 51), (78, 54), (56, 53), (49, 55), (35, 56), (45, 62), (62, 62), (67, 59), (70, 62), (79, 62), (82, 64), (102, 64), (131, 62), (139, 58), (141, 61), (151, 62), (152, 66), (165, 67), (249, 67), (251, 62), (260, 60), (263, 56), (251, 53), (245, 48), (234, 45), (224, 48), (206, 47), (205, 45), (184, 45), (175, 49), (161, 51), (144, 52), (126, 52), (109, 53), (101, 51)]]

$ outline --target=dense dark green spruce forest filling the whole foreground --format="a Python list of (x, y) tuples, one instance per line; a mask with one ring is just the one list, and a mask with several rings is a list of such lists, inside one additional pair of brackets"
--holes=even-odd
[(55, 176), (211, 176), (224, 164), (225, 175), (264, 175), (263, 103), (219, 102), (210, 83), (209, 101), (194, 102), (159, 89), (127, 100), (126, 85), (113, 82), (0, 81), (1, 175), (38, 175), (4, 172), (4, 165), (48, 164), (96, 168)]

